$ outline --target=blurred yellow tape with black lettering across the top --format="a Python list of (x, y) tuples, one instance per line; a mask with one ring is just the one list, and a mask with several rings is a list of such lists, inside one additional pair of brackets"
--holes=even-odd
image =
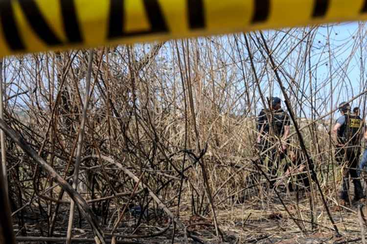
[(0, 0), (0, 56), (366, 18), (367, 0)]

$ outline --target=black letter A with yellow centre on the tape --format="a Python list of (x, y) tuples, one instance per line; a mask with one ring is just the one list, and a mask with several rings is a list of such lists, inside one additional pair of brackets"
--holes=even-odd
[(144, 9), (147, 14), (151, 29), (148, 31), (124, 32), (125, 5), (124, 0), (110, 0), (110, 19), (108, 28), (108, 39), (124, 36), (137, 36), (143, 34), (168, 32), (167, 24), (163, 18), (161, 6), (158, 0), (143, 0)]

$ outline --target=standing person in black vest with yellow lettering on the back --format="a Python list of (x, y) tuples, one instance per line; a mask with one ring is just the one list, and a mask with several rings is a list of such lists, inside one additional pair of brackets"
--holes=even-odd
[(350, 106), (346, 102), (339, 104), (342, 116), (336, 121), (331, 135), (336, 145), (336, 160), (345, 164), (343, 169), (343, 183), (340, 198), (343, 204), (350, 203), (349, 174), (354, 184), (354, 198), (352, 203), (364, 198), (362, 184), (358, 178), (358, 162), (360, 156), (360, 141), (363, 122), (361, 117), (350, 113)]

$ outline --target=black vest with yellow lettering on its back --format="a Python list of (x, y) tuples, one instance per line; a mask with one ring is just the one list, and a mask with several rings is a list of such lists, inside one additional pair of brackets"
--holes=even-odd
[(345, 123), (338, 130), (338, 139), (342, 144), (359, 145), (362, 137), (363, 121), (358, 115), (345, 114)]

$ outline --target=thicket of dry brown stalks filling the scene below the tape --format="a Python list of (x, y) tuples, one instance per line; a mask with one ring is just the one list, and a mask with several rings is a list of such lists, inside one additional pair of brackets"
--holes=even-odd
[[(18, 242), (362, 240), (366, 213), (338, 204), (328, 134), (340, 101), (365, 111), (367, 32), (355, 27), (342, 41), (328, 25), (6, 58)], [(276, 191), (260, 176), (256, 115), (272, 95), (297, 122), (289, 148), (297, 127), (315, 164), (311, 193), (289, 192), (296, 175), (282, 170)]]

